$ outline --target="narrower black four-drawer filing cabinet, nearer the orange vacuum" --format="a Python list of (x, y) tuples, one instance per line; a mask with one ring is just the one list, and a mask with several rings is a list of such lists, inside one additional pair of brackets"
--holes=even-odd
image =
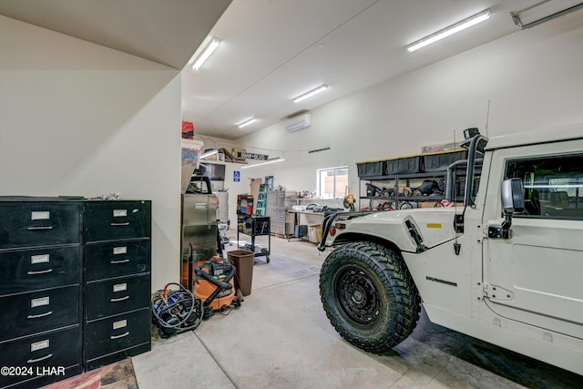
[(87, 370), (150, 350), (149, 200), (85, 202)]

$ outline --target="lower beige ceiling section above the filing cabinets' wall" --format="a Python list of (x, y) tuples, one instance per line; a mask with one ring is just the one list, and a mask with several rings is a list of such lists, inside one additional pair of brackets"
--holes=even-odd
[(231, 0), (0, 0), (0, 15), (182, 69)]

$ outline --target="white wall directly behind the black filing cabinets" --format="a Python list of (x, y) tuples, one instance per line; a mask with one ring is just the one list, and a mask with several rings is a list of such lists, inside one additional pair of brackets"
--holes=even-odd
[(152, 288), (179, 281), (179, 71), (0, 15), (0, 195), (152, 200)]

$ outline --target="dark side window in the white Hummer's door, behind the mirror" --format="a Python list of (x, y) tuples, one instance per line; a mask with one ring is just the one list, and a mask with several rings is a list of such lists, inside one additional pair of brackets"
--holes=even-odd
[(522, 215), (583, 220), (583, 155), (562, 155), (506, 162), (505, 179), (522, 179)]

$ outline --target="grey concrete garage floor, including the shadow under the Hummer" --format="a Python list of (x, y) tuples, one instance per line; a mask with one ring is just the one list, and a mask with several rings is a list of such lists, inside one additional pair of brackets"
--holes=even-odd
[(271, 263), (256, 259), (239, 309), (132, 358), (139, 388), (583, 388), (580, 375), (447, 330), (424, 312), (391, 353), (364, 353), (322, 310), (324, 258), (310, 242), (271, 238)]

